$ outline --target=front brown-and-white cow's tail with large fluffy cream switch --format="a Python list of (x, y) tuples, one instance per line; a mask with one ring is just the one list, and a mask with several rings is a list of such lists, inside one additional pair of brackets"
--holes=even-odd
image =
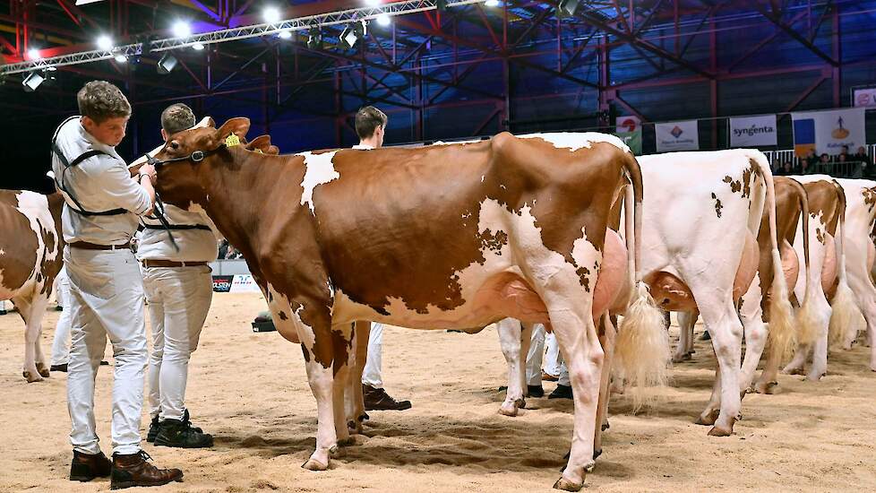
[(632, 292), (615, 340), (613, 367), (615, 376), (633, 390), (633, 405), (638, 409), (646, 401), (646, 394), (639, 392), (641, 389), (666, 385), (671, 359), (663, 311), (657, 307), (648, 292), (648, 286), (642, 281), (641, 169), (632, 154), (627, 153), (625, 157), (624, 165), (630, 184), (624, 191), (623, 222)]

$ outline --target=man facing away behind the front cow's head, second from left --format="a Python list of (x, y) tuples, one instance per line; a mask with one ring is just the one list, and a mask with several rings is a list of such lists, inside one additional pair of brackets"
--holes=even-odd
[[(161, 136), (192, 128), (192, 109), (174, 104), (161, 113)], [(152, 324), (149, 404), (152, 417), (146, 440), (155, 445), (202, 448), (213, 437), (195, 428), (185, 409), (189, 359), (198, 348), (210, 310), (213, 282), (208, 264), (219, 255), (217, 240), (197, 212), (173, 205), (156, 207), (169, 224), (154, 217), (142, 220), (137, 259), (143, 265), (143, 284)], [(172, 235), (172, 236), (171, 236)]]

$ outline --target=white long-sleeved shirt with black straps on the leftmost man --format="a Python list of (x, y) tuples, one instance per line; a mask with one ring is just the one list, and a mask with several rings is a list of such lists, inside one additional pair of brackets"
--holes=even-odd
[[(125, 209), (130, 213), (111, 216), (84, 216), (71, 210), (69, 198), (65, 197), (61, 213), (64, 240), (67, 243), (87, 241), (99, 245), (122, 245), (131, 240), (137, 230), (137, 216), (150, 210), (149, 194), (131, 177), (125, 161), (116, 149), (99, 143), (85, 127), (80, 117), (69, 118), (57, 130), (56, 143), (64, 158), (73, 162), (90, 150), (107, 154), (83, 160), (74, 168), (64, 170), (64, 164), (52, 156), (52, 170), (58, 181), (70, 191), (79, 203), (90, 212)], [(75, 205), (75, 203), (73, 203)]]

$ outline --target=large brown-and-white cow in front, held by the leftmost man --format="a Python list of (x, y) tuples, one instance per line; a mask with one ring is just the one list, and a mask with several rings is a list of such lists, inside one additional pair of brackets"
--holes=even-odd
[(554, 486), (580, 489), (603, 365), (593, 288), (614, 198), (640, 183), (626, 146), (552, 134), (294, 156), (222, 146), (248, 128), (232, 118), (176, 134), (156, 156), (157, 188), (167, 203), (201, 207), (240, 248), (279, 333), (301, 342), (318, 414), (304, 467), (326, 469), (351, 442), (351, 322), (467, 329), (513, 316), (552, 324), (563, 348), (575, 421)]

